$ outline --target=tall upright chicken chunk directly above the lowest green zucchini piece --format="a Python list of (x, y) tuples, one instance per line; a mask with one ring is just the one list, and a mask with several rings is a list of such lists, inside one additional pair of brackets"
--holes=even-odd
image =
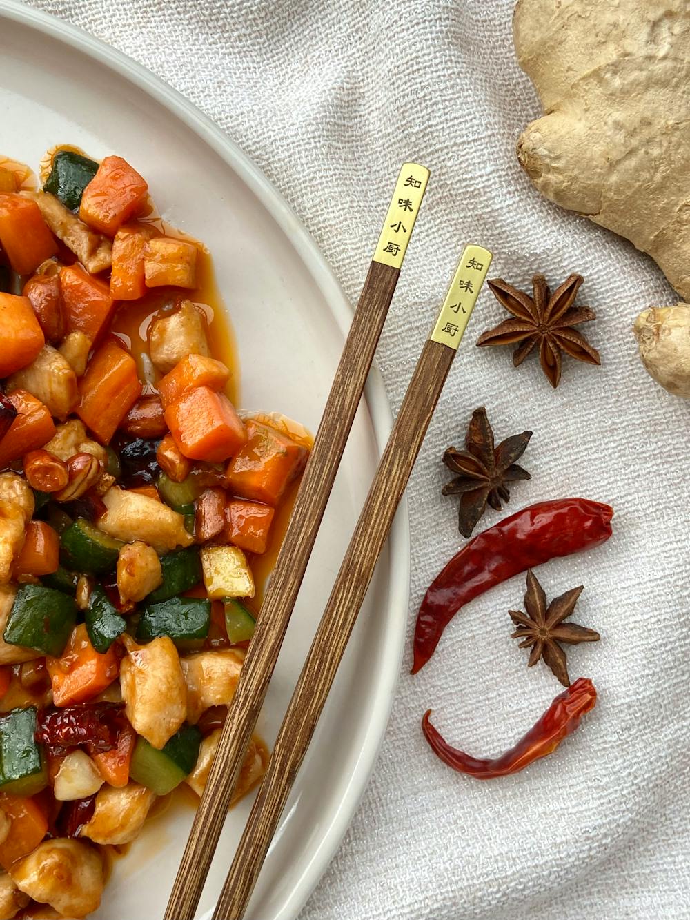
[(148, 645), (127, 642), (120, 665), (125, 713), (133, 729), (155, 748), (162, 748), (187, 718), (187, 685), (178, 650), (167, 636)]

